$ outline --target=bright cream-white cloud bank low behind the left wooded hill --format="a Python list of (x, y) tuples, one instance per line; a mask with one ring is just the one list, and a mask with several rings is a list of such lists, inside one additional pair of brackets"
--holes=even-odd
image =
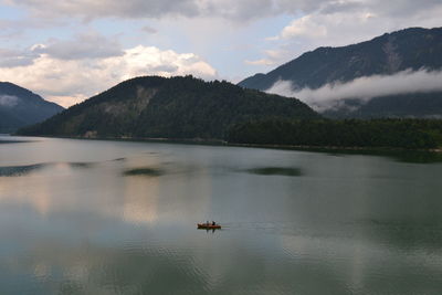
[(214, 78), (217, 71), (193, 53), (138, 45), (124, 50), (120, 56), (95, 60), (61, 61), (56, 55), (42, 53), (32, 64), (2, 69), (0, 80), (70, 106), (130, 77), (186, 74)]

